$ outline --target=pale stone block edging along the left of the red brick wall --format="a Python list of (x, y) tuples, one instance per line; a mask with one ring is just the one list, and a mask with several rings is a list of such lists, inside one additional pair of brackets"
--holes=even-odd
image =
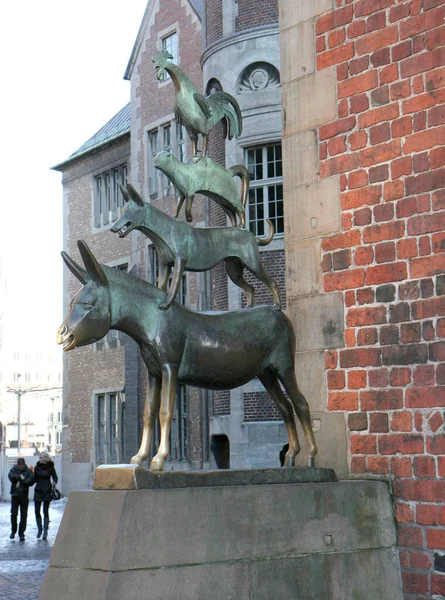
[(344, 345), (341, 294), (325, 294), (323, 237), (338, 233), (340, 182), (320, 179), (318, 129), (337, 118), (335, 67), (316, 70), (315, 23), (333, 0), (281, 0), (281, 85), (287, 313), (297, 336), (296, 371), (312, 410), (319, 463), (347, 471), (344, 416), (327, 412), (325, 351)]

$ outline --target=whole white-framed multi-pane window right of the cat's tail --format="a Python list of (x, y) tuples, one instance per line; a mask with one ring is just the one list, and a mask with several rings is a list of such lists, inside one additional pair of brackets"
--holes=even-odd
[(284, 233), (283, 167), (281, 144), (248, 148), (246, 162), (250, 175), (249, 229), (258, 236), (267, 235), (266, 219), (275, 227), (275, 234)]

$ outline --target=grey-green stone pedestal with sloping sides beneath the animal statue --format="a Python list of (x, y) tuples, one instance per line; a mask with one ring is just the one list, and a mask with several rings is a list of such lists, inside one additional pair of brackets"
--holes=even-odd
[(397, 600), (388, 487), (71, 493), (40, 600)]

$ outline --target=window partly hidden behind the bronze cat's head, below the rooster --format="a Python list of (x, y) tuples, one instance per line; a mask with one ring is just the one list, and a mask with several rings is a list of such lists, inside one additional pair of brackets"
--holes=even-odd
[(169, 179), (155, 169), (154, 157), (158, 152), (165, 150), (173, 154), (181, 162), (187, 159), (185, 127), (178, 121), (165, 123), (148, 132), (149, 165), (148, 165), (148, 190), (150, 198), (165, 197), (171, 193)]

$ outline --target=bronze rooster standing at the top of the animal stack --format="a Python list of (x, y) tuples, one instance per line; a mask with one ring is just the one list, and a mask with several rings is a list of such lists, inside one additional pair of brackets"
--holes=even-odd
[(202, 156), (207, 157), (207, 141), (210, 130), (220, 121), (224, 137), (229, 140), (242, 132), (242, 117), (238, 102), (227, 92), (216, 92), (207, 98), (195, 88), (187, 75), (173, 62), (173, 56), (163, 50), (153, 57), (154, 69), (159, 81), (164, 71), (170, 75), (175, 86), (175, 117), (184, 125), (192, 142), (192, 153), (198, 154), (198, 135), (202, 135)]

